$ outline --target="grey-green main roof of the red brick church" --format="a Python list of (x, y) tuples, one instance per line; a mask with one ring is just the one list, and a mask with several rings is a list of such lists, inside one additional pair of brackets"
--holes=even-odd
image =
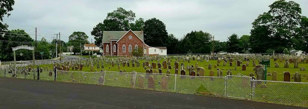
[[(109, 36), (111, 41), (118, 41), (122, 38), (128, 31), (103, 31), (103, 43), (110, 43)], [(132, 31), (137, 37), (139, 37), (142, 41), (143, 39), (143, 31)]]

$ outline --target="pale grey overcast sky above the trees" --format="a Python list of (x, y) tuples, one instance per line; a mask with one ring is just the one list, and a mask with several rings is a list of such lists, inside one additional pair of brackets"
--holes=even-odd
[[(251, 23), (269, 10), (275, 0), (15, 0), (10, 17), (4, 18), (9, 29), (25, 29), (28, 34), (61, 33), (69, 36), (74, 31), (91, 36), (93, 27), (102, 22), (108, 12), (123, 7), (136, 13), (136, 19), (157, 18), (166, 24), (168, 34), (177, 38), (193, 30), (215, 35), (215, 40), (226, 41), (232, 33), (249, 34)], [(302, 15), (308, 16), (308, 0), (293, 0), (300, 4)], [(20, 27), (16, 27), (20, 26)], [(31, 27), (31, 28), (22, 28)], [(48, 31), (48, 32), (45, 32)], [(44, 36), (53, 39), (53, 35)], [(33, 37), (33, 36), (32, 36)], [(38, 39), (40, 39), (38, 37)], [(68, 41), (67, 37), (61, 40)], [(94, 39), (93, 39), (94, 42)]]

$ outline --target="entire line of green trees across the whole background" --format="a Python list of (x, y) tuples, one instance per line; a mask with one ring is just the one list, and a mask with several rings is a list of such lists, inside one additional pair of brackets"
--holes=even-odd
[[(0, 3), (0, 20), (3, 17), (10, 16), (13, 10), (14, 0), (4, 0)], [(172, 33), (168, 33), (164, 22), (157, 18), (151, 18), (144, 21), (143, 18), (136, 19), (132, 10), (117, 8), (107, 13), (107, 17), (94, 26), (91, 35), (94, 36), (94, 43), (97, 46), (102, 45), (103, 31), (144, 31), (144, 42), (152, 47), (167, 47), (167, 54), (208, 54), (214, 52), (226, 51), (228, 53), (284, 53), (290, 49), (302, 50), (308, 52), (308, 18), (302, 16), (300, 5), (294, 1), (286, 2), (278, 0), (271, 4), (267, 12), (260, 14), (253, 22), (250, 35), (238, 36), (236, 33), (230, 34), (227, 41), (212, 40), (213, 34), (206, 31), (192, 30), (180, 39)], [(0, 22), (0, 60), (13, 60), (13, 51), (11, 47), (20, 45), (34, 46), (34, 39), (27, 35), (22, 29), (8, 30), (8, 25)], [(14, 33), (14, 35), (12, 35)], [(69, 41), (65, 43), (62, 40), (54, 39), (48, 43), (45, 38), (38, 41), (38, 52), (40, 55), (44, 52), (43, 58), (52, 58), (55, 54), (55, 43), (61, 42), (59, 48), (66, 52), (67, 46), (74, 46), (73, 52), (80, 52), (80, 44), (89, 43), (88, 36), (84, 32), (73, 32), (69, 36)], [(21, 43), (22, 42), (22, 43)], [(59, 52), (60, 49), (58, 49)], [(17, 60), (31, 60), (32, 53), (26, 50), (16, 51), (16, 54), (22, 52), (24, 56), (16, 55)], [(28, 59), (29, 58), (29, 59)], [(39, 59), (37, 57), (37, 59)]]

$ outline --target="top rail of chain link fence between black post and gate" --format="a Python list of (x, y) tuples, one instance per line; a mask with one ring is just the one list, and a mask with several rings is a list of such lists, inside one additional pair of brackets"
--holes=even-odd
[[(64, 70), (57, 70), (57, 71), (64, 71)], [(97, 73), (97, 72), (83, 72), (83, 71), (64, 71), (64, 72), (80, 72), (80, 73)], [(114, 73), (139, 73), (139, 72), (115, 72), (115, 71), (99, 71), (99, 72), (114, 72)], [(139, 74), (147, 74), (147, 73), (139, 73)], [(150, 73), (150, 74), (163, 74), (163, 75), (167, 75), (166, 73)], [(168, 75), (175, 75), (176, 74), (168, 74)], [(201, 77), (201, 76), (188, 76), (188, 75), (178, 75), (178, 76), (186, 76), (186, 77)], [(207, 76), (204, 76), (207, 77)], [(225, 77), (214, 77), (214, 78), (225, 78)]]

